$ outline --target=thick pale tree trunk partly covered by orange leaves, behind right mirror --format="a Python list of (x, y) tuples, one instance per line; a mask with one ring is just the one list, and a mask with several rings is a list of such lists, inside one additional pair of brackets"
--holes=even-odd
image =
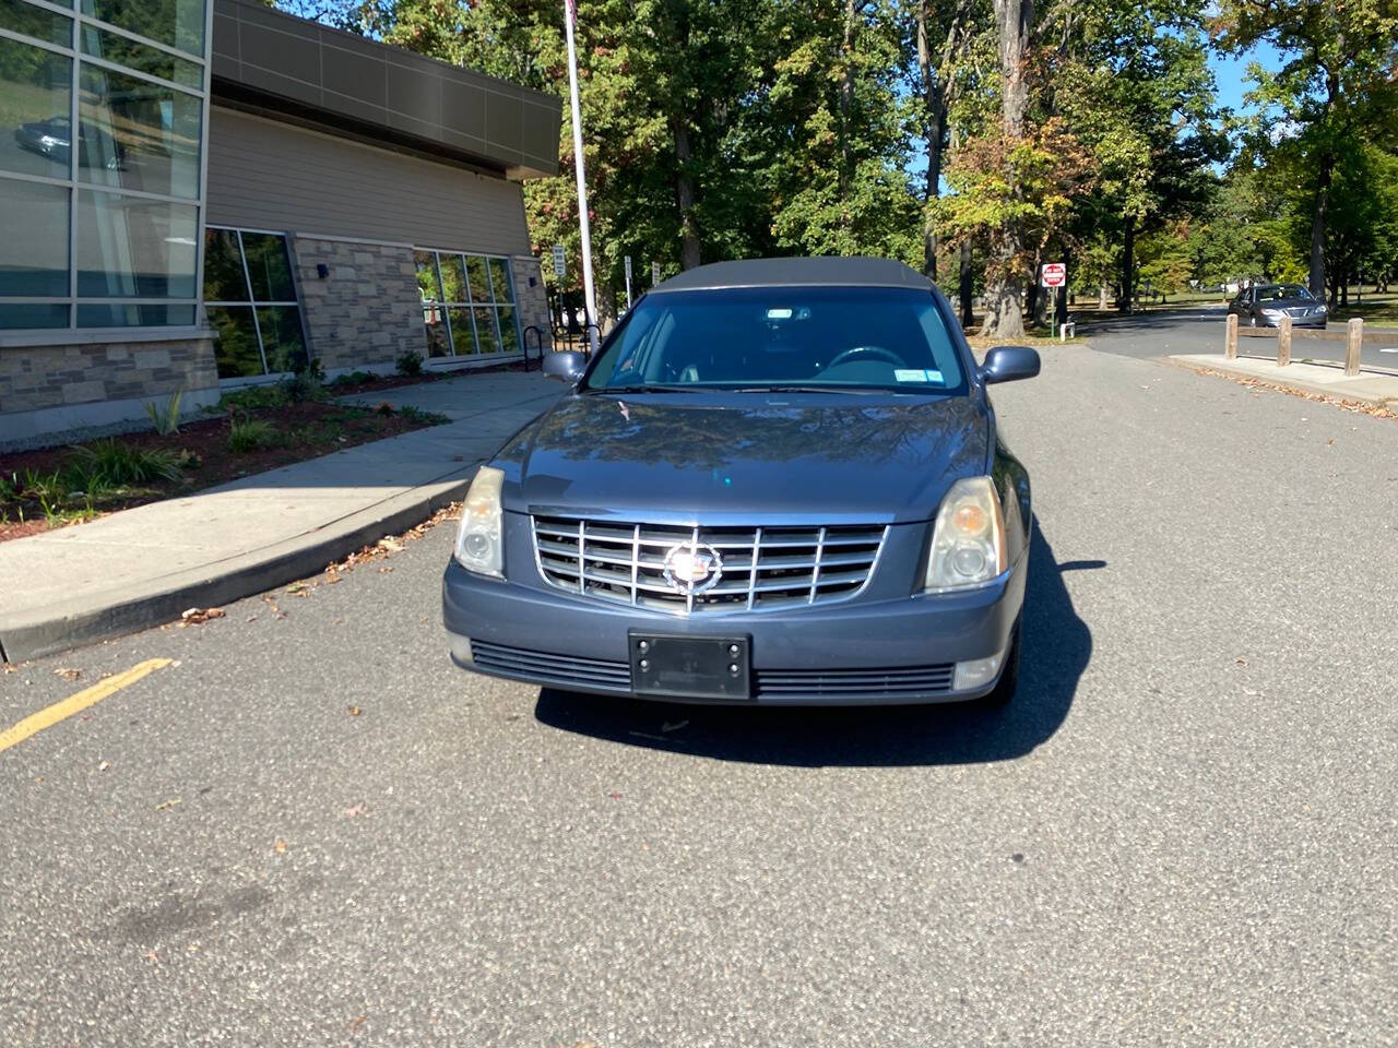
[[(1025, 49), (1033, 22), (1033, 0), (994, 0), (995, 29), (1000, 38), (1001, 130), (1011, 143), (1025, 134), (1025, 109), (1029, 85), (1025, 80)], [(1018, 200), (1021, 189), (1014, 172), (1005, 172), (1009, 194)], [(1009, 218), (991, 233), (990, 271), (986, 282), (986, 331), (994, 338), (1019, 338), (1025, 334), (1023, 263), (1025, 232), (1018, 218)]]

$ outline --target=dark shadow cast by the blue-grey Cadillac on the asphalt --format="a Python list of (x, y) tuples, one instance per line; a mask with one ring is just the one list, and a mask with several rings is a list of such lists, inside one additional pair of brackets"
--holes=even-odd
[(800, 767), (1009, 760), (1058, 731), (1092, 657), (1092, 632), (1074, 611), (1064, 572), (1104, 566), (1100, 560), (1060, 565), (1036, 520), (1019, 692), (1002, 710), (686, 706), (547, 687), (534, 715), (561, 731), (717, 760)]

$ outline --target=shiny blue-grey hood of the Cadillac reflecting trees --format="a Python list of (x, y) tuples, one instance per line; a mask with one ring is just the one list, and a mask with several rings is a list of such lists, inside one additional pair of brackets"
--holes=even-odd
[(517, 511), (712, 524), (927, 520), (952, 481), (986, 471), (988, 422), (966, 395), (573, 395), (496, 464), (505, 504)]

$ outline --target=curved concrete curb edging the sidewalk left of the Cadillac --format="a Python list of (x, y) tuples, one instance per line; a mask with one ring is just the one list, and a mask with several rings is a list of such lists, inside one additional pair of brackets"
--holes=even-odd
[(84, 599), (84, 606), (39, 608), (6, 627), (0, 634), (0, 657), (27, 662), (159, 626), (178, 619), (187, 608), (228, 604), (319, 574), (326, 565), (384, 535), (407, 531), (443, 506), (460, 502), (477, 465), (480, 463), (464, 465), (459, 479), (414, 488), (256, 553), (161, 578), (145, 592), (112, 591)]

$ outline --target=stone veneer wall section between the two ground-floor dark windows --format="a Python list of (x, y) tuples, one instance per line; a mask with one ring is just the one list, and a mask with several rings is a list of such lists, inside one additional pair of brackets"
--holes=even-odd
[[(425, 351), (411, 247), (296, 235), (292, 254), (310, 355), (326, 370)], [(320, 264), (329, 277), (317, 274)]]

